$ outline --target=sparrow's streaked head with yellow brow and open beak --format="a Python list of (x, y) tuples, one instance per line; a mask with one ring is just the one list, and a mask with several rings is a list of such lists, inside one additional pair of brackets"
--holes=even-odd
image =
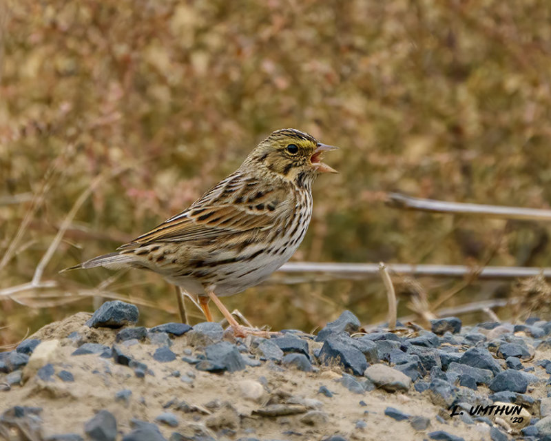
[(324, 152), (336, 148), (322, 144), (300, 130), (281, 129), (261, 141), (249, 154), (245, 163), (301, 184), (313, 181), (320, 173), (338, 173), (322, 163)]

